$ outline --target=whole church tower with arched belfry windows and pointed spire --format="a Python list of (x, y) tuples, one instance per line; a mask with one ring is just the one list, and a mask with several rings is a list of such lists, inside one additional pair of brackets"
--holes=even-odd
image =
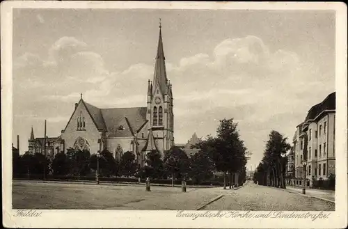
[(148, 81), (149, 134), (153, 135), (157, 150), (162, 154), (174, 145), (174, 115), (172, 85), (166, 74), (166, 63), (159, 22), (159, 40), (157, 47), (153, 81)]

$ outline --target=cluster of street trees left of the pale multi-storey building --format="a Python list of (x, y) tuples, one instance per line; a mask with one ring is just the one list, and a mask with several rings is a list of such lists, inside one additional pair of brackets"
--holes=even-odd
[(279, 132), (272, 131), (269, 134), (262, 161), (254, 173), (254, 182), (285, 189), (286, 153), (290, 148), (287, 138)]

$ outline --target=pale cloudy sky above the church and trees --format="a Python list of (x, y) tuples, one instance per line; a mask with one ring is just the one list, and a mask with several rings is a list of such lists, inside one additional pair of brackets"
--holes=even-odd
[(79, 102), (146, 106), (161, 18), (173, 84), (175, 143), (216, 134), (234, 118), (248, 169), (269, 133), (289, 139), (311, 106), (335, 91), (330, 10), (13, 10), (13, 143), (59, 136)]

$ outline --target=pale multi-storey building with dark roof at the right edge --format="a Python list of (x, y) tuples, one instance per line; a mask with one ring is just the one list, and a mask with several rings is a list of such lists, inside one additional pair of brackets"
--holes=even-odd
[(308, 157), (306, 160), (306, 180), (327, 180), (335, 174), (335, 93), (328, 95), (324, 101), (312, 106), (306, 119), (299, 124), (294, 138), (295, 177), (303, 180), (303, 136), (308, 136)]

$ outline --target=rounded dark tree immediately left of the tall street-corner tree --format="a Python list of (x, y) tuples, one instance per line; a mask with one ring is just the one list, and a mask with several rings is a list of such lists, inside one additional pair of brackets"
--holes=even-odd
[(203, 151), (192, 155), (189, 159), (189, 166), (189, 177), (196, 184), (199, 184), (202, 180), (208, 180), (213, 176), (214, 162)]

